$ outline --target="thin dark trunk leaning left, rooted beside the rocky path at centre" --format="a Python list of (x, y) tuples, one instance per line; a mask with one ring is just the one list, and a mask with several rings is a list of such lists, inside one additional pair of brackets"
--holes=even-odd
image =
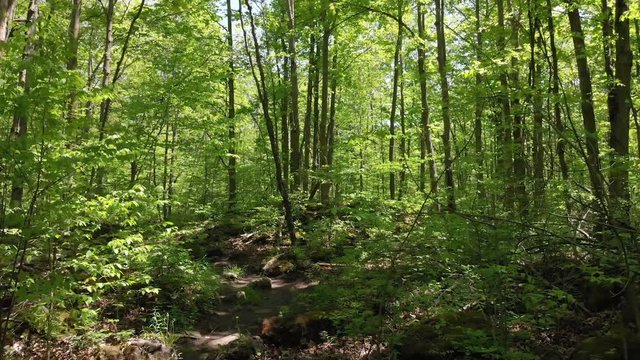
[[(249, 0), (245, 0), (245, 4), (247, 6), (248, 9), (248, 14), (249, 14), (249, 22), (250, 22), (250, 26), (251, 26), (251, 35), (253, 38), (253, 45), (254, 45), (254, 50), (255, 50), (255, 60), (256, 60), (256, 66), (258, 68), (258, 76), (256, 76), (255, 71), (253, 71), (253, 77), (254, 77), (254, 81), (256, 83), (256, 87), (258, 90), (258, 95), (260, 98), (260, 104), (262, 106), (262, 112), (263, 112), (263, 116), (264, 116), (264, 120), (267, 126), (267, 133), (269, 135), (269, 143), (271, 145), (271, 152), (273, 154), (273, 162), (275, 165), (275, 176), (276, 176), (276, 185), (278, 186), (278, 190), (280, 192), (280, 195), (282, 197), (282, 203), (283, 203), (283, 207), (284, 207), (284, 213), (285, 213), (285, 222), (287, 225), (287, 231), (289, 233), (289, 239), (291, 241), (292, 245), (296, 244), (296, 230), (295, 230), (295, 224), (293, 222), (293, 211), (292, 211), (292, 207), (291, 207), (291, 201), (289, 199), (289, 192), (287, 191), (287, 188), (285, 187), (284, 184), (284, 179), (282, 176), (282, 162), (280, 159), (280, 150), (278, 149), (278, 142), (276, 140), (276, 133), (274, 130), (274, 126), (273, 126), (273, 121), (271, 119), (271, 115), (269, 113), (269, 94), (267, 91), (267, 83), (266, 83), (266, 79), (265, 79), (265, 73), (264, 73), (264, 66), (262, 65), (262, 56), (260, 54), (260, 46), (258, 44), (258, 35), (256, 33), (256, 25), (255, 22), (253, 20), (253, 13), (251, 10), (251, 3), (249, 2)], [(244, 31), (244, 26), (243, 26), (243, 31)], [(246, 39), (246, 34), (245, 34), (245, 39)], [(247, 47), (247, 55), (249, 54), (249, 48)], [(252, 64), (253, 65), (253, 64)], [(252, 66), (253, 68), (253, 66)]]

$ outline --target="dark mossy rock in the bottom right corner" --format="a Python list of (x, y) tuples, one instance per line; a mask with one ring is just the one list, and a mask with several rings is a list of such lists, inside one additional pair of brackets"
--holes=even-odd
[(640, 335), (629, 329), (615, 329), (583, 340), (571, 360), (640, 360)]

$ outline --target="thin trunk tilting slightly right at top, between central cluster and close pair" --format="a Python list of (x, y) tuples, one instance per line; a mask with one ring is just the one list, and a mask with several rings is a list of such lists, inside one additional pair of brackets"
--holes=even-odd
[(396, 48), (393, 55), (393, 95), (391, 97), (391, 114), (389, 116), (389, 197), (393, 200), (396, 198), (396, 174), (393, 171), (395, 162), (396, 148), (396, 111), (398, 108), (398, 82), (402, 76), (402, 66), (400, 65), (400, 56), (402, 51), (402, 13), (404, 11), (403, 1), (398, 2), (398, 36), (396, 38)]

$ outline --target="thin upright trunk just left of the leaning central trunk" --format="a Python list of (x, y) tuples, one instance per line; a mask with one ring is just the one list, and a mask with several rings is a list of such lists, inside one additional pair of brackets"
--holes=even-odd
[(236, 175), (236, 91), (235, 91), (235, 64), (233, 59), (233, 11), (231, 0), (227, 0), (227, 46), (229, 47), (229, 75), (227, 77), (228, 91), (228, 133), (229, 133), (229, 164), (227, 167), (227, 199), (228, 211), (232, 212), (237, 203), (238, 180)]

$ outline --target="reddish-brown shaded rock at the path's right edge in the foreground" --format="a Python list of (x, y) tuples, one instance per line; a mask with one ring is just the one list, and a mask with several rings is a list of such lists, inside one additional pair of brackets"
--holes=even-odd
[(305, 313), (290, 317), (274, 316), (262, 321), (261, 337), (276, 346), (299, 346), (308, 342), (321, 343), (323, 334), (334, 333), (330, 319), (319, 313)]

